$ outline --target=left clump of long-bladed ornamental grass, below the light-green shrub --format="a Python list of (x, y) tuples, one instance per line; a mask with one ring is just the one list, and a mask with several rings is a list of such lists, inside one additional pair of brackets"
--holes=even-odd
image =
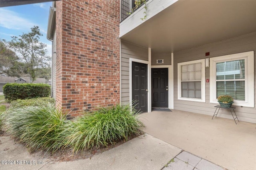
[(28, 148), (54, 152), (64, 147), (64, 140), (59, 135), (68, 120), (54, 105), (16, 108), (5, 113), (4, 120), (8, 131)]

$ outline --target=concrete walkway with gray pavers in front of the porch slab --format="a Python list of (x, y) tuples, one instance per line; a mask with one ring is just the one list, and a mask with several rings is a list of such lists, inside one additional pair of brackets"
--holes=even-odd
[(69, 162), (52, 162), (44, 157), (36, 157), (7, 136), (0, 137), (0, 155), (0, 170), (193, 170), (194, 167), (195, 170), (222, 170), (220, 166), (182, 152), (178, 147), (148, 134), (91, 159)]

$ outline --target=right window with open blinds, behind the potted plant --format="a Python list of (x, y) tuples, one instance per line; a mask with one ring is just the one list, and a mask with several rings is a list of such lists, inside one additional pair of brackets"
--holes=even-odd
[(229, 95), (234, 105), (254, 107), (254, 52), (210, 58), (210, 102)]

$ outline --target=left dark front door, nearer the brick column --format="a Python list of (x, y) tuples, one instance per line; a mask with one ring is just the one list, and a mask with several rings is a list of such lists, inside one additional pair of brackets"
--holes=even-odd
[(132, 62), (132, 106), (137, 111), (148, 111), (148, 65)]

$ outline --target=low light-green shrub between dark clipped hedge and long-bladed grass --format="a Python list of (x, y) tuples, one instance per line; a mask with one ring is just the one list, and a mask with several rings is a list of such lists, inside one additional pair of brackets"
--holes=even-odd
[(18, 99), (11, 102), (10, 109), (24, 106), (46, 106), (48, 103), (55, 104), (54, 98), (33, 98), (24, 100)]

